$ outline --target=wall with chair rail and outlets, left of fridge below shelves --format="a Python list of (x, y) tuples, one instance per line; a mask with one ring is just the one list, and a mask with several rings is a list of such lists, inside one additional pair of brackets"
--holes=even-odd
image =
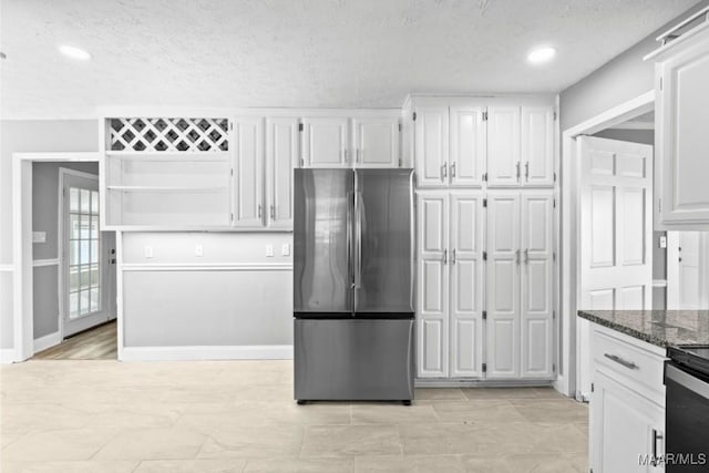
[(289, 233), (124, 234), (125, 347), (292, 345), (291, 255)]

